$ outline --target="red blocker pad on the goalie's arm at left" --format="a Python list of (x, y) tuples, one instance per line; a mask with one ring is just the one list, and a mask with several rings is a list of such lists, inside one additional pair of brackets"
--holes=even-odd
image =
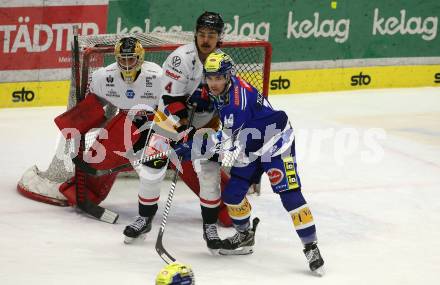
[(54, 119), (66, 139), (70, 139), (72, 133), (64, 129), (76, 129), (80, 134), (85, 134), (104, 120), (104, 109), (95, 94), (87, 95), (84, 100)]

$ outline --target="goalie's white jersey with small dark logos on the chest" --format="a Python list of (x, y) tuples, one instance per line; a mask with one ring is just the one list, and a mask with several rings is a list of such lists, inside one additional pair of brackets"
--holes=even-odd
[[(102, 67), (92, 74), (89, 92), (119, 109), (132, 109), (143, 104), (156, 109), (161, 96), (162, 69), (153, 62), (144, 62), (138, 78), (128, 84), (122, 79), (117, 63)], [(134, 109), (146, 109), (136, 107)]]

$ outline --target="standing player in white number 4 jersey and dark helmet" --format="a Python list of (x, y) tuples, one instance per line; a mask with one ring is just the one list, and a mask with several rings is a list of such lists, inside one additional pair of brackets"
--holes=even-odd
[[(202, 82), (203, 63), (206, 57), (219, 47), (223, 28), (224, 22), (219, 14), (203, 13), (197, 19), (194, 42), (177, 48), (163, 64), (163, 96), (159, 110), (178, 122), (176, 125), (179, 132), (191, 127), (188, 126), (188, 113), (192, 108), (192, 95), (207, 95), (206, 87)], [(212, 104), (197, 106), (192, 123), (195, 129), (202, 127), (218, 129), (219, 123)], [(220, 166), (216, 162), (203, 160), (194, 162), (194, 165), (191, 161), (184, 162), (182, 168), (183, 175), (180, 177), (200, 198), (203, 238), (206, 240), (207, 247), (215, 253), (221, 247), (221, 240), (217, 233), (217, 219), (224, 225), (231, 225), (226, 207), (221, 200)], [(157, 169), (157, 172), (160, 171)], [(157, 177), (157, 181), (162, 178)], [(150, 182), (158, 185), (157, 181)], [(149, 214), (147, 221), (151, 220), (156, 213), (160, 195), (158, 187), (150, 185), (149, 190), (139, 201), (142, 211)], [(134, 224), (133, 228), (135, 226)]]

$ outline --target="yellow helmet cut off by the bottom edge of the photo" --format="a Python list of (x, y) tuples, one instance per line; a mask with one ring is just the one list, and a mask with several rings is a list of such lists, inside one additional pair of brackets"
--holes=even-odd
[(156, 277), (156, 285), (194, 285), (191, 266), (171, 263), (165, 266)]

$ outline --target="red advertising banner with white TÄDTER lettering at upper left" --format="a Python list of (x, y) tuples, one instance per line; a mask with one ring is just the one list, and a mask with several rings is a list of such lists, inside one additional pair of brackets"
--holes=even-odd
[(107, 5), (0, 8), (0, 70), (70, 68), (73, 26), (105, 33)]

